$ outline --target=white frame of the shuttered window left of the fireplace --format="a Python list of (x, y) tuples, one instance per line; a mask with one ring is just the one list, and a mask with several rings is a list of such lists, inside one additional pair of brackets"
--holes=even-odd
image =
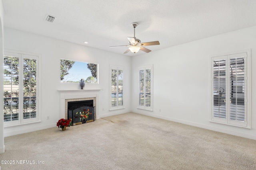
[[(39, 79), (41, 77), (41, 55), (36, 54), (36, 53), (28, 53), (28, 52), (23, 52), (23, 51), (15, 51), (15, 50), (10, 50), (10, 49), (4, 49), (4, 57), (5, 56), (11, 56), (11, 57), (18, 57), (19, 58), (19, 84), (18, 84), (18, 89), (23, 89), (23, 80), (24, 80), (24, 75), (23, 75), (23, 60), (24, 59), (35, 59), (36, 60), (36, 117), (32, 117), (29, 119), (23, 118), (23, 102), (19, 102), (18, 106), (18, 114), (19, 118), (18, 121), (12, 122), (12, 121), (4, 121), (4, 127), (12, 127), (12, 126), (17, 126), (17, 125), (24, 125), (24, 124), (30, 124), (30, 123), (37, 123), (41, 122), (41, 104), (40, 104), (40, 96), (41, 96), (41, 86), (39, 84)], [(20, 71), (22, 70), (22, 72)], [(23, 90), (19, 90), (19, 101), (23, 101)]]

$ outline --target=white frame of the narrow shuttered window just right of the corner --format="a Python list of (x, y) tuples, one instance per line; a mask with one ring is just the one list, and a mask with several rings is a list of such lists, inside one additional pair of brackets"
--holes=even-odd
[[(140, 105), (140, 71), (144, 70), (144, 73), (146, 70), (150, 70), (150, 106), (146, 106), (146, 98), (144, 98), (143, 106)], [(146, 84), (146, 74), (144, 74), (144, 85)], [(144, 86), (144, 89), (147, 89), (147, 85)], [(144, 90), (143, 96), (146, 96), (146, 91)], [(144, 109), (153, 111), (153, 64), (147, 65), (147, 66), (140, 66), (138, 67), (138, 109)]]

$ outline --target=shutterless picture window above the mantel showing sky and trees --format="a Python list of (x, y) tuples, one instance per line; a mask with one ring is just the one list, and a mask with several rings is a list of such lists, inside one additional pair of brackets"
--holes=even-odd
[(61, 83), (78, 83), (81, 79), (98, 83), (98, 64), (60, 59)]

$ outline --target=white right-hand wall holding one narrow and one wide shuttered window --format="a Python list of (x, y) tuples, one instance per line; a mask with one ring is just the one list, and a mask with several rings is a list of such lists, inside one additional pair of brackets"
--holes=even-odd
[[(132, 57), (132, 111), (256, 139), (256, 26)], [(170, 39), (170, 41), (172, 41)], [(161, 44), (161, 42), (160, 42)], [(251, 127), (209, 122), (209, 56), (251, 49)], [(138, 66), (153, 64), (153, 111), (137, 109)], [(136, 82), (136, 83), (135, 83)], [(161, 109), (161, 111), (160, 111)]]

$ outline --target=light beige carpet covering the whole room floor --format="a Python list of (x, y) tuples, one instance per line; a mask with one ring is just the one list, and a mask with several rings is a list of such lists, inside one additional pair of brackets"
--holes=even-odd
[(256, 170), (255, 140), (136, 113), (4, 141), (1, 170)]

